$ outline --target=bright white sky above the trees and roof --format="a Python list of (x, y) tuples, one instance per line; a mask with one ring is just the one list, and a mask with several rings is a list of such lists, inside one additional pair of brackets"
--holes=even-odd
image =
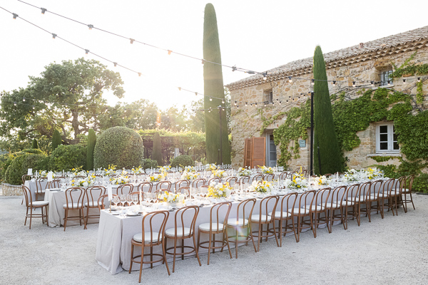
[[(200, 0), (26, 0), (36, 7), (70, 19), (93, 24), (126, 38), (203, 58), (203, 16)], [(253, 1), (213, 0), (220, 38), (222, 62), (263, 72), (276, 66), (313, 56), (315, 46), (324, 53), (427, 26), (428, 1)], [(350, 4), (348, 4), (350, 3)], [(0, 9), (0, 91), (25, 88), (29, 76), (39, 76), (50, 63), (96, 59), (123, 79), (125, 97), (106, 93), (108, 103), (131, 103), (146, 98), (165, 110), (181, 108), (203, 93), (201, 61), (168, 55), (167, 51), (140, 43), (131, 44), (88, 26), (63, 19), (17, 0), (0, 0), (0, 7), (19, 15), (14, 20)], [(85, 55), (50, 33), (71, 41), (111, 61), (142, 73), (128, 71), (101, 58)], [(249, 75), (223, 67), (226, 84)]]

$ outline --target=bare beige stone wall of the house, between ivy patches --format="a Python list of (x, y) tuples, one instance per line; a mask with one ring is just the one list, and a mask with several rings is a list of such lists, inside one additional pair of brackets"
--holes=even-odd
[[(428, 48), (419, 49), (417, 55), (412, 60), (412, 63), (427, 63), (428, 59), (425, 56), (428, 52)], [(401, 66), (402, 63), (412, 56), (414, 51), (407, 51), (399, 54), (391, 54), (385, 56), (378, 56), (377, 58), (372, 58), (369, 61), (364, 61), (360, 63), (352, 63), (347, 66), (340, 66), (336, 68), (327, 69), (327, 77), (329, 80), (337, 81), (347, 81), (347, 82), (338, 82), (336, 86), (329, 84), (330, 94), (338, 93), (344, 88), (349, 87), (350, 92), (347, 92), (346, 99), (352, 100), (358, 96), (357, 90), (360, 88), (353, 88), (352, 81), (380, 81), (380, 73), (384, 68), (391, 66), (391, 62), (394, 62), (396, 66)], [(334, 65), (332, 65), (334, 66)], [(290, 74), (294, 76), (294, 74)], [(272, 133), (273, 130), (278, 128), (285, 118), (278, 120), (271, 125), (269, 125), (266, 131), (260, 134), (260, 130), (263, 128), (263, 121), (261, 120), (263, 114), (265, 118), (270, 118), (272, 115), (275, 115), (280, 112), (290, 110), (290, 108), (295, 106), (300, 106), (305, 103), (308, 99), (306, 95), (312, 90), (312, 85), (310, 79), (313, 78), (312, 73), (307, 73), (304, 75), (299, 75), (299, 78), (304, 78), (307, 80), (295, 79), (292, 83), (288, 82), (287, 77), (282, 77), (282, 79), (275, 79), (270, 81), (269, 76), (266, 81), (258, 85), (246, 86), (243, 88), (230, 88), (230, 96), (232, 102), (237, 101), (239, 108), (232, 106), (231, 112), (231, 132), (232, 132), (232, 164), (233, 167), (243, 166), (244, 157), (244, 142), (245, 138), (251, 138), (252, 136), (260, 137), (266, 135), (266, 133)], [(413, 77), (410, 77), (413, 78)], [(361, 88), (365, 85), (365, 88), (372, 88), (370, 83), (357, 83), (357, 87)], [(416, 94), (416, 81), (411, 81), (403, 83), (400, 78), (397, 81), (394, 81), (391, 87), (394, 90), (402, 91), (404, 93)], [(374, 87), (377, 88), (377, 87)], [(267, 100), (266, 94), (272, 91), (272, 101), (275, 105), (268, 104), (263, 105), (263, 101)], [(428, 80), (424, 80), (423, 91), (426, 94), (428, 90)], [(305, 94), (302, 94), (305, 93)], [(279, 104), (281, 101), (281, 105)], [(247, 106), (245, 106), (247, 103)], [(251, 103), (253, 103), (251, 105)], [(255, 106), (254, 103), (258, 103)], [(427, 100), (425, 99), (422, 108), (427, 108)], [(379, 164), (372, 158), (367, 155), (373, 155), (376, 152), (375, 147), (375, 127), (370, 125), (370, 128), (362, 132), (357, 133), (360, 137), (361, 145), (356, 147), (350, 152), (345, 152), (345, 156), (350, 160), (348, 166), (356, 169), (361, 167), (367, 167), (373, 164)], [(307, 139), (307, 147), (300, 148), (300, 158), (292, 159), (288, 162), (288, 165), (291, 169), (295, 169), (300, 166), (309, 166), (309, 138)], [(292, 142), (293, 143), (293, 142)], [(277, 157), (280, 156), (279, 147), (277, 147)], [(399, 160), (392, 159), (387, 162), (382, 162), (380, 164), (399, 164)]]

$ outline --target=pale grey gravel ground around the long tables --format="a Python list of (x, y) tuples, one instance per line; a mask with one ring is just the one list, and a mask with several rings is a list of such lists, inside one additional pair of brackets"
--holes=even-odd
[[(240, 247), (238, 259), (228, 253), (178, 261), (168, 276), (165, 266), (143, 270), (142, 284), (427, 284), (428, 196), (414, 195), (416, 211), (391, 212), (361, 227), (342, 225), (294, 237)], [(138, 271), (111, 275), (95, 260), (98, 224), (51, 229), (33, 221), (24, 226), (20, 197), (0, 197), (0, 284), (137, 284)], [(234, 252), (232, 253), (234, 254)], [(172, 264), (170, 264), (172, 269)]]

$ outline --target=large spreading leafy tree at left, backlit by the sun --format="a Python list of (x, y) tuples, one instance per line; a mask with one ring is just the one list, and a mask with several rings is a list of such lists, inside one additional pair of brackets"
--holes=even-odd
[(90, 128), (98, 130), (98, 116), (106, 112), (103, 92), (111, 90), (122, 98), (122, 84), (119, 73), (98, 61), (51, 63), (40, 77), (30, 76), (29, 86), (3, 95), (0, 135), (15, 140), (51, 138), (59, 129), (63, 142), (77, 143)]

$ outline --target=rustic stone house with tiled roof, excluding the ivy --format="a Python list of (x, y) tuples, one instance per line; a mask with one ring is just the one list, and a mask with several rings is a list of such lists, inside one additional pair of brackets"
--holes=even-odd
[[(347, 100), (352, 100), (357, 96), (356, 91), (360, 90), (361, 86), (365, 88), (382, 86), (416, 94), (417, 76), (408, 77), (405, 83), (402, 78), (394, 81), (389, 78), (394, 66), (401, 66), (415, 51), (417, 53), (412, 58), (412, 63), (428, 63), (428, 26), (325, 53), (330, 94), (345, 91)], [(423, 82), (422, 90), (426, 95), (428, 76), (420, 77)], [(264, 118), (271, 118), (277, 113), (305, 103), (308, 100), (306, 94), (312, 90), (312, 78), (312, 58), (305, 58), (272, 68), (267, 71), (267, 76), (256, 74), (226, 86), (230, 90), (232, 101), (233, 167), (244, 165), (245, 139), (251, 137), (266, 138), (265, 165), (277, 164), (280, 150), (272, 141), (272, 132), (282, 125), (285, 117), (274, 120), (266, 127), (263, 126), (262, 114)], [(336, 81), (335, 84), (333, 81)], [(426, 104), (424, 100), (422, 107), (425, 108)], [(263, 133), (260, 133), (262, 129)], [(349, 167), (360, 169), (373, 165), (377, 162), (370, 157), (374, 156), (402, 157), (392, 122), (371, 123), (369, 128), (358, 132), (357, 135), (361, 140), (360, 146), (345, 152)], [(291, 169), (309, 166), (309, 142), (309, 138), (300, 141), (300, 157), (291, 158), (287, 162)], [(291, 142), (290, 145), (295, 145), (295, 142)], [(399, 160), (392, 159), (384, 163), (397, 164)]]

